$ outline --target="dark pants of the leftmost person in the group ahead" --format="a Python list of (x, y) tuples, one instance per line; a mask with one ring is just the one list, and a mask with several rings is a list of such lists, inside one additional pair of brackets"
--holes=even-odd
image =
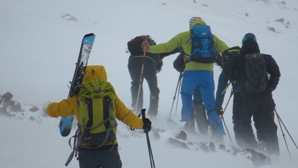
[[(140, 83), (143, 62), (143, 78), (141, 79)], [(157, 87), (155, 62), (150, 58), (130, 58), (128, 62), (128, 71), (130, 72), (130, 78), (132, 78), (132, 86), (130, 87), (132, 92), (132, 108), (136, 108), (137, 96), (139, 94), (137, 109), (134, 109), (134, 112), (140, 113), (141, 109), (143, 108), (143, 79), (145, 78), (150, 90), (150, 105), (148, 109), (148, 115), (156, 116), (158, 112), (159, 88)]]

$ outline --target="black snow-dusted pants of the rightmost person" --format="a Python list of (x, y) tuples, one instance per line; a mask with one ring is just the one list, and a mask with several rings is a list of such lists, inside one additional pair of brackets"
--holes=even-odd
[(255, 137), (252, 131), (253, 116), (254, 126), (258, 142), (265, 142), (269, 154), (279, 156), (279, 140), (277, 137), (277, 125), (274, 122), (275, 103), (270, 92), (257, 95), (243, 96), (241, 98), (239, 114), (240, 137), (245, 144), (254, 148)]

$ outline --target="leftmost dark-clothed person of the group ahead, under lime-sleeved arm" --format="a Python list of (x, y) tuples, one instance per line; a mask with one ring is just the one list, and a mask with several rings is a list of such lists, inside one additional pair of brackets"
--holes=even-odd
[[(132, 78), (132, 86), (130, 87), (130, 90), (132, 92), (132, 108), (134, 108), (134, 113), (140, 113), (143, 108), (143, 78), (145, 78), (150, 90), (148, 115), (151, 119), (155, 119), (159, 105), (157, 73), (161, 71), (163, 64), (162, 59), (173, 53), (177, 53), (177, 50), (170, 51), (168, 53), (146, 53), (144, 56), (144, 52), (141, 47), (137, 45), (139, 44), (137, 40), (142, 41), (147, 37), (150, 45), (156, 44), (149, 35), (140, 35), (128, 42), (128, 50), (131, 54), (128, 59), (128, 71), (130, 72), (130, 78)], [(136, 42), (136, 44), (134, 44), (134, 42)], [(142, 79), (140, 84), (141, 76)], [(137, 100), (138, 97), (139, 99)]]

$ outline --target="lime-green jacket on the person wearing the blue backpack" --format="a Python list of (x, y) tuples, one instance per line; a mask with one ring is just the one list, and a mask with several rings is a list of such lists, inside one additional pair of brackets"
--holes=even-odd
[[(193, 26), (201, 25), (204, 26), (206, 23), (203, 20), (196, 20), (191, 24), (189, 30), (193, 28)], [(189, 58), (191, 55), (191, 40), (189, 40), (189, 37), (191, 37), (191, 31), (184, 31), (182, 33), (179, 33), (175, 35), (171, 40), (169, 40), (166, 43), (157, 44), (154, 46), (150, 46), (148, 49), (149, 53), (168, 53), (170, 51), (173, 51), (174, 49), (178, 47), (182, 47), (184, 49), (184, 60)], [(187, 42), (189, 40), (189, 42)], [(216, 35), (213, 35), (213, 41), (215, 43), (214, 49), (220, 53), (225, 51), (225, 49), (229, 49), (227, 44), (225, 42), (222, 42)], [(187, 42), (187, 44), (186, 44)], [(200, 63), (200, 62), (194, 62), (191, 61), (190, 64), (185, 65), (185, 71), (191, 71), (191, 70), (208, 70), (213, 72), (213, 65), (212, 63)]]

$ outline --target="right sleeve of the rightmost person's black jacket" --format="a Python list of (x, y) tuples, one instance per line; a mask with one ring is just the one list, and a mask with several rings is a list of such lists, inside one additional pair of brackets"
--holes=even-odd
[(269, 79), (269, 85), (270, 88), (275, 90), (277, 85), (279, 84), (279, 78), (281, 77), (281, 72), (279, 71), (279, 65), (277, 65), (277, 62), (275, 62), (274, 58), (272, 56), (268, 56), (268, 74), (270, 74), (270, 79)]

